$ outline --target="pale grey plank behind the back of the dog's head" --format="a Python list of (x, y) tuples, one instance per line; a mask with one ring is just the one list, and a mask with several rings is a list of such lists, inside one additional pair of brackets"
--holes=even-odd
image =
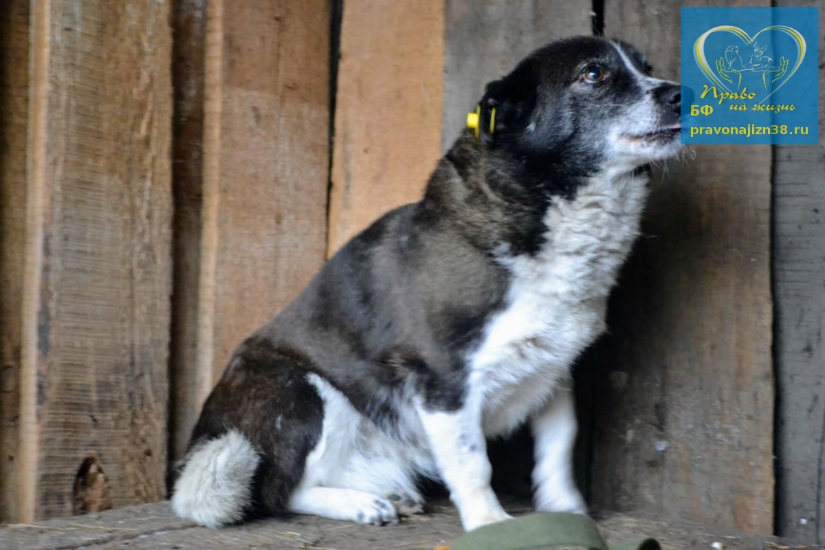
[(590, 0), (446, 0), (443, 150), (464, 129), (484, 86), (551, 40), (590, 35)]

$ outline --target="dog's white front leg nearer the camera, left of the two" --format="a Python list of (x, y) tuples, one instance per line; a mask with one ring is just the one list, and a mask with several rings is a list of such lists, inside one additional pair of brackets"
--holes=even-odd
[(464, 530), (510, 519), (490, 487), (493, 467), (487, 458), (481, 408), (465, 403), (456, 411), (433, 411), (422, 406), (418, 414)]

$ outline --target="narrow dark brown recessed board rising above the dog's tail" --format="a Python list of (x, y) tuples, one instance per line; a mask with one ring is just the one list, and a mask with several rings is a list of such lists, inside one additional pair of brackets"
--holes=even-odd
[[(172, 3), (172, 333), (169, 461), (183, 458), (200, 406), (197, 369), (203, 209), (206, 0)], [(211, 372), (211, 367), (209, 368)]]

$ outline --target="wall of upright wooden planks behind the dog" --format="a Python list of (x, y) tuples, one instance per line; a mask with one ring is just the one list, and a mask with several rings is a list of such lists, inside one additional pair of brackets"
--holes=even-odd
[[(677, 79), (678, 9), (4, 2), (0, 521), (163, 498), (233, 348), (417, 199), (486, 82), (594, 29)], [(577, 368), (597, 508), (825, 539), (821, 147), (697, 147), (654, 175)]]

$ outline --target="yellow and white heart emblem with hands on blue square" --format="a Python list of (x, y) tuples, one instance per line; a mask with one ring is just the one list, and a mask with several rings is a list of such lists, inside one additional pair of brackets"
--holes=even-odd
[[(771, 59), (770, 56), (765, 55), (767, 46), (760, 46), (757, 38), (763, 32), (767, 31), (779, 31), (785, 35), (789, 35), (791, 39), (794, 40), (794, 44), (797, 47), (797, 59), (792, 68), (790, 67), (790, 60), (785, 59), (785, 57), (782, 57), (778, 62), (776, 62), (774, 59)], [(745, 46), (752, 47), (753, 54), (747, 58), (747, 54), (744, 56), (739, 54), (738, 45), (731, 45), (728, 46), (728, 49), (725, 50), (722, 56), (718, 59), (714, 58), (714, 66), (711, 67), (710, 63), (708, 63), (707, 57), (705, 56), (705, 41), (708, 39), (709, 35), (712, 35), (714, 32), (729, 32), (733, 35), (737, 35), (742, 42), (744, 42)], [(693, 57), (700, 70), (705, 73), (705, 76), (715, 87), (724, 90), (729, 94), (733, 94), (733, 92), (738, 90), (739, 86), (742, 84), (742, 75), (745, 73), (760, 73), (761, 80), (766, 90), (768, 89), (769, 84), (779, 82), (775, 85), (775, 87), (773, 87), (770, 93), (768, 93), (761, 99), (761, 101), (757, 103), (757, 105), (766, 101), (768, 97), (774, 95), (780, 87), (785, 86), (785, 83), (794, 76), (794, 73), (796, 73), (799, 65), (802, 64), (802, 60), (805, 57), (805, 52), (806, 45), (804, 37), (799, 33), (799, 31), (785, 25), (766, 26), (753, 36), (748, 35), (747, 32), (742, 31), (742, 29), (738, 26), (714, 26), (714, 28), (700, 35), (693, 45)], [(746, 58), (747, 61), (744, 60)], [(742, 100), (735, 101), (739, 104), (743, 103)]]

